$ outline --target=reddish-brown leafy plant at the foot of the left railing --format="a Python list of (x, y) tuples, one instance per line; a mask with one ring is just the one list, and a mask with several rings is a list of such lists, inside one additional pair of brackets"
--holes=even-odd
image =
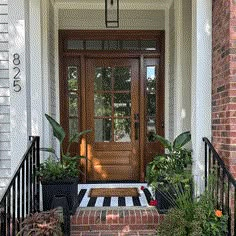
[(56, 209), (51, 211), (36, 212), (29, 215), (21, 224), (17, 234), (27, 236), (62, 236), (62, 220)]

